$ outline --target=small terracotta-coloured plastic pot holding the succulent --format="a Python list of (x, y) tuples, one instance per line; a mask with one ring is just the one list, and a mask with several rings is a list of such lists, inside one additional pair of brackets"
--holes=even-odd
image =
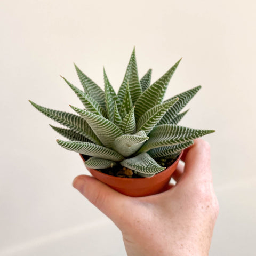
[[(126, 196), (149, 196), (161, 193), (162, 191), (167, 189), (171, 176), (177, 168), (182, 153), (183, 151), (172, 165), (167, 167), (164, 171), (159, 172), (150, 178), (115, 177), (113, 175), (105, 174), (95, 169), (91, 169), (88, 167), (86, 168), (93, 175), (93, 177)], [(80, 156), (85, 162), (83, 155), (80, 154)]]

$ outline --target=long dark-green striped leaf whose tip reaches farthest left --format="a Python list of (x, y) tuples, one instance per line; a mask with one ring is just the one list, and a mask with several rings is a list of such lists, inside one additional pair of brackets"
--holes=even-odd
[(92, 131), (91, 127), (84, 121), (83, 118), (80, 116), (59, 111), (59, 110), (53, 110), (50, 108), (45, 108), (42, 106), (37, 105), (36, 103), (29, 101), (36, 109), (38, 109), (41, 113), (46, 115), (47, 117), (50, 117), (54, 121), (65, 125), (66, 127), (74, 130), (75, 132), (78, 132), (79, 134), (83, 135), (87, 139), (93, 141), (94, 143), (98, 145), (102, 145), (100, 140), (97, 138), (95, 133)]

